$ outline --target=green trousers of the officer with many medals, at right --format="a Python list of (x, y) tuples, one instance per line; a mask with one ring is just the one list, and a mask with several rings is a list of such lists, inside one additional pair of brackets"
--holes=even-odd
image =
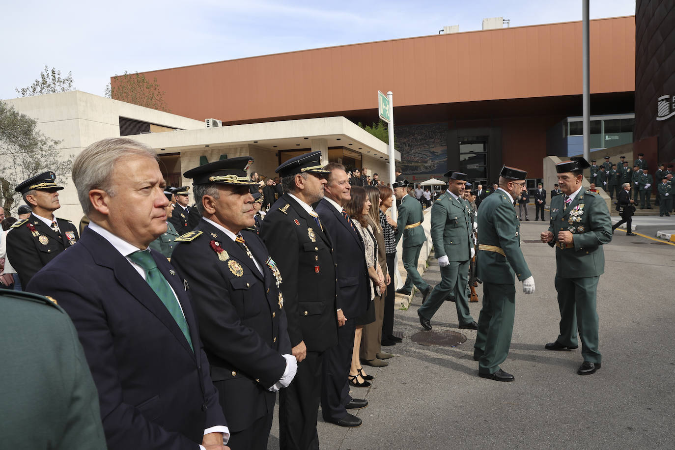
[(560, 335), (558, 343), (567, 347), (578, 345), (576, 331), (581, 337), (581, 356), (584, 361), (602, 362), (597, 351), (598, 318), (595, 309), (597, 282), (600, 277), (556, 277), (558, 306), (560, 307)]

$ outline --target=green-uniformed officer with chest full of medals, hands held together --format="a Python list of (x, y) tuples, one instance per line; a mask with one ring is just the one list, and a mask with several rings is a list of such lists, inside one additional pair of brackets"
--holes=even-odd
[(583, 364), (580, 375), (595, 373), (602, 357), (598, 351), (598, 318), (595, 309), (597, 282), (605, 271), (603, 244), (612, 241), (612, 221), (607, 204), (595, 192), (584, 192), (583, 158), (556, 165), (563, 196), (551, 201), (551, 225), (541, 242), (556, 247), (556, 291), (560, 307), (560, 335), (547, 350), (576, 349), (577, 329)]

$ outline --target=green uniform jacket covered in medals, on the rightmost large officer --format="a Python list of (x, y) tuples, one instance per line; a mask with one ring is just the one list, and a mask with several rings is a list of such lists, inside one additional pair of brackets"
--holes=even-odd
[[(556, 246), (556, 277), (597, 277), (605, 271), (602, 244), (612, 241), (612, 220), (607, 204), (599, 194), (580, 190), (563, 212), (565, 196), (551, 201), (549, 231)], [(559, 231), (570, 231), (574, 242), (567, 247), (558, 242)]]

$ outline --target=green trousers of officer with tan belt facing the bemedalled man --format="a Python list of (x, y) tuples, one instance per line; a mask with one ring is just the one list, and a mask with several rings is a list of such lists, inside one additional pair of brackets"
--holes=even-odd
[(483, 308), (473, 349), (479, 373), (493, 374), (506, 360), (515, 316), (516, 285), (483, 281)]

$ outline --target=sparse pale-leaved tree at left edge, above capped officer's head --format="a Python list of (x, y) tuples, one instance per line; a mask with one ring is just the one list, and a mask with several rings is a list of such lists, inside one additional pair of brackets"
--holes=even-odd
[(60, 143), (42, 134), (35, 119), (0, 101), (0, 204), (7, 215), (21, 202), (14, 188), (25, 179), (51, 170), (62, 186), (68, 180), (74, 156), (63, 159)]

